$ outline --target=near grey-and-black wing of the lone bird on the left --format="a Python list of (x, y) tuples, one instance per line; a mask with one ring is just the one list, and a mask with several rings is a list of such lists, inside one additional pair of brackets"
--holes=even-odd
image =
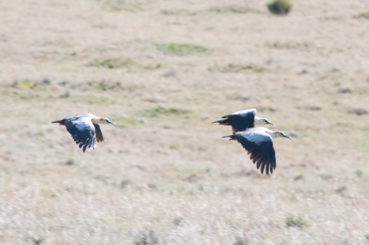
[(96, 147), (95, 127), (91, 122), (91, 118), (78, 117), (67, 119), (65, 120), (65, 127), (83, 152), (93, 150)]

